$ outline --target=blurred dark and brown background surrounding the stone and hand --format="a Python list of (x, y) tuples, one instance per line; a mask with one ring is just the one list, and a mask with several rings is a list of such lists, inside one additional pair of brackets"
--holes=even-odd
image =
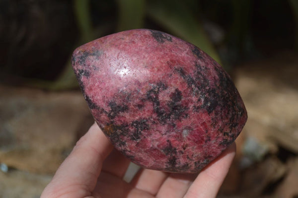
[(93, 123), (74, 49), (135, 28), (187, 40), (248, 112), (219, 198), (298, 198), (298, 0), (0, 0), (0, 198), (39, 198)]

